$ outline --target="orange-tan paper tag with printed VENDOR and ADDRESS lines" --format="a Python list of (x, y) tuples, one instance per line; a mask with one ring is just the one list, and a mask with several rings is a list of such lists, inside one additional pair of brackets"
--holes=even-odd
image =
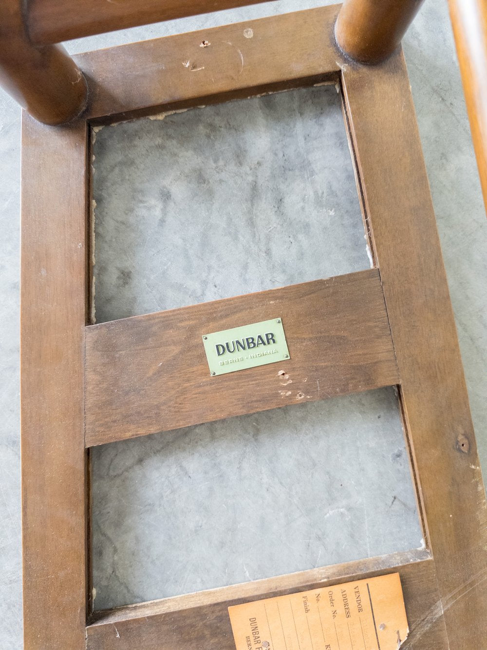
[(399, 573), (229, 607), (236, 650), (397, 650), (409, 629)]

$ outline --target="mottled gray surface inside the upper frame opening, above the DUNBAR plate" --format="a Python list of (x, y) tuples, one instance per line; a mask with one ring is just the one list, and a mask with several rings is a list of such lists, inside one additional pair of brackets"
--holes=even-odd
[(96, 134), (97, 322), (369, 268), (334, 86), (160, 118)]

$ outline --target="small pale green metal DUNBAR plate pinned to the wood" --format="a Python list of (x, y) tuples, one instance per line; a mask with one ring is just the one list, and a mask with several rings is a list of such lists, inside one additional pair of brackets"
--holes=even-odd
[(289, 359), (281, 318), (204, 334), (203, 345), (212, 375)]

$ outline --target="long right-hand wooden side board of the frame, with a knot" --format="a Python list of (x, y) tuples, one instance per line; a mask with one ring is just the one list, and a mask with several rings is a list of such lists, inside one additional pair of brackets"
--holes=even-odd
[(474, 648), (486, 638), (487, 508), (402, 52), (348, 66), (343, 92), (449, 647)]

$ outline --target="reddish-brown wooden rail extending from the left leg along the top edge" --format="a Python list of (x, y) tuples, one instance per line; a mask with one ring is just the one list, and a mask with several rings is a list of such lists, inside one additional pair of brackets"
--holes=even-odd
[(45, 45), (268, 1), (77, 0), (73, 3), (66, 0), (30, 0), (27, 3), (27, 23), (32, 42)]

